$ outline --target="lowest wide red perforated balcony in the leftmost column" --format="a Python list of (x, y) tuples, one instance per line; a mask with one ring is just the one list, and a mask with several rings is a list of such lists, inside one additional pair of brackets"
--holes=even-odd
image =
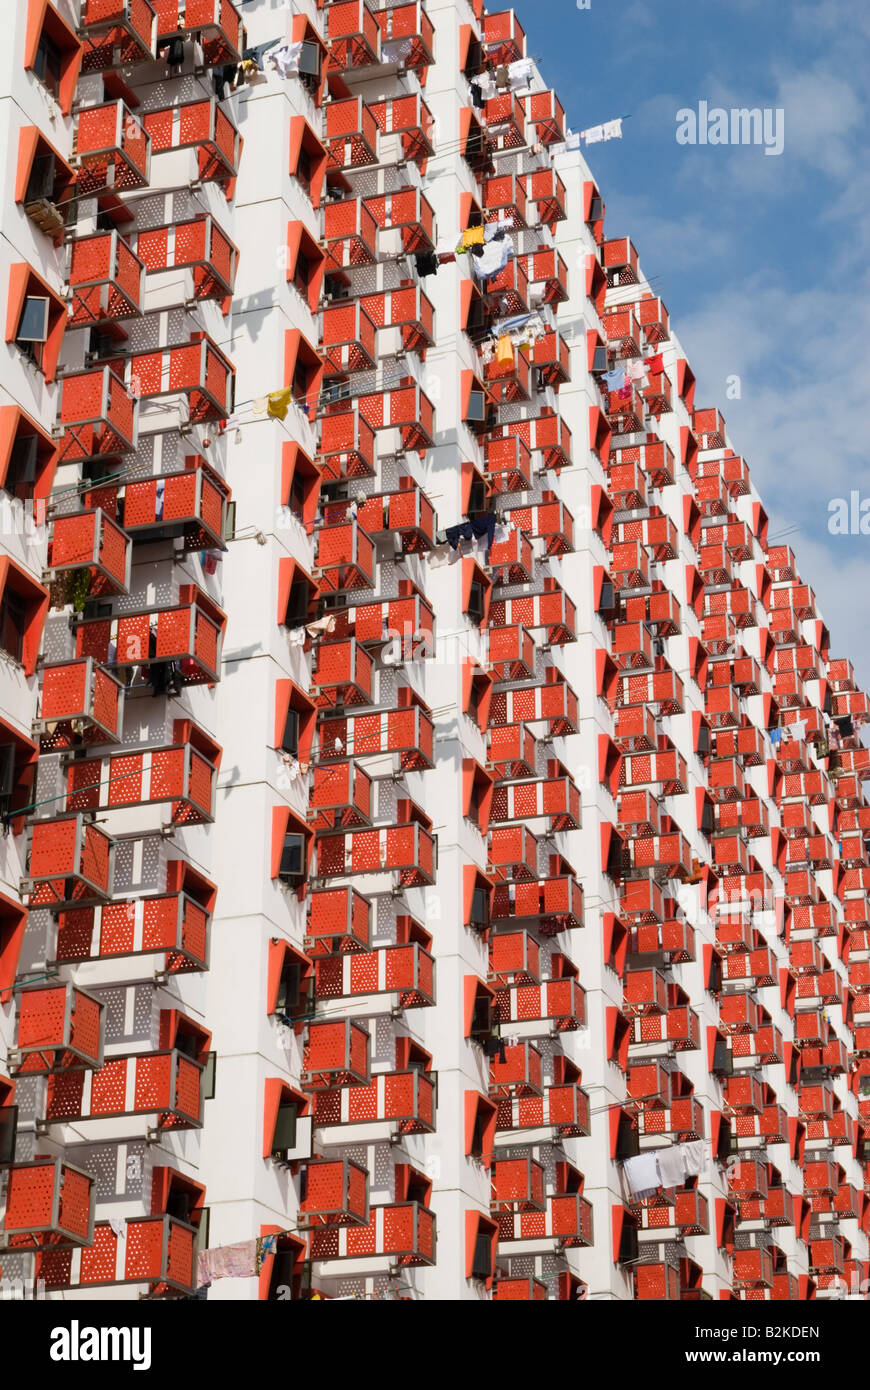
[(93, 1227), (93, 1244), (47, 1252), (39, 1262), (46, 1290), (96, 1289), (107, 1284), (157, 1284), (179, 1294), (196, 1291), (196, 1226), (174, 1216), (128, 1218), (118, 1236), (108, 1222)]

